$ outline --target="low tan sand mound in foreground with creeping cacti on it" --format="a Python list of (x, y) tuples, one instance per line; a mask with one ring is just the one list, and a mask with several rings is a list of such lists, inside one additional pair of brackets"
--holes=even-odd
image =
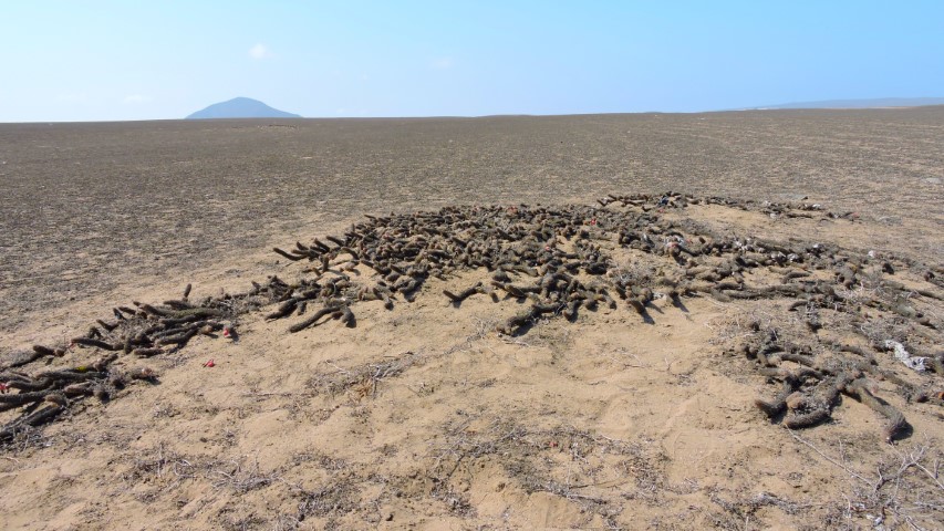
[(868, 233), (610, 196), (195, 272), (4, 353), (4, 525), (933, 528), (944, 271)]

